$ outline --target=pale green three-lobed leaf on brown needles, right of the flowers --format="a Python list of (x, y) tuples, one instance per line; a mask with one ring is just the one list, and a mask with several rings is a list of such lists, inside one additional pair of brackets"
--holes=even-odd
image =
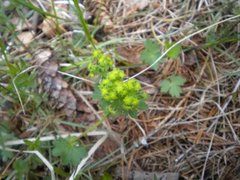
[(180, 97), (186, 79), (182, 76), (172, 75), (160, 84), (162, 93), (169, 93), (172, 97)]

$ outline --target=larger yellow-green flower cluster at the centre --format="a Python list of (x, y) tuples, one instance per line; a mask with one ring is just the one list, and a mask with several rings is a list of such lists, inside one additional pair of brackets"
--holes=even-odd
[(102, 98), (108, 103), (111, 114), (137, 111), (140, 101), (145, 100), (140, 83), (135, 79), (124, 82), (124, 77), (122, 70), (114, 69), (99, 84)]

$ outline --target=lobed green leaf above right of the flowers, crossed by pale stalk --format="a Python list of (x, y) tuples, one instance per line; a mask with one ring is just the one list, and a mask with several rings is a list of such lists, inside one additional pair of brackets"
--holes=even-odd
[[(157, 58), (161, 56), (159, 44), (152, 40), (146, 40), (144, 47), (145, 49), (141, 52), (140, 59), (143, 63), (152, 65), (157, 60)], [(161, 61), (155, 64), (152, 68), (154, 70), (157, 70), (159, 63), (161, 63)]]

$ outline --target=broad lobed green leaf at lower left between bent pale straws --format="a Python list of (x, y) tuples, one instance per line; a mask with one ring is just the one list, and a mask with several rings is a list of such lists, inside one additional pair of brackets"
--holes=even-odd
[(77, 165), (87, 154), (86, 148), (78, 144), (76, 137), (60, 138), (53, 144), (53, 156), (59, 156), (63, 165)]

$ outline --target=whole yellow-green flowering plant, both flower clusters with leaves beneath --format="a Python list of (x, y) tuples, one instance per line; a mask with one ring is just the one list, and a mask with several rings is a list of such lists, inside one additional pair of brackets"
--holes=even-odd
[(98, 75), (94, 97), (99, 100), (105, 114), (111, 116), (137, 116), (139, 110), (147, 108), (146, 94), (136, 79), (124, 81), (124, 71), (114, 68), (110, 57), (101, 51), (93, 52), (94, 64), (88, 66), (91, 76)]

